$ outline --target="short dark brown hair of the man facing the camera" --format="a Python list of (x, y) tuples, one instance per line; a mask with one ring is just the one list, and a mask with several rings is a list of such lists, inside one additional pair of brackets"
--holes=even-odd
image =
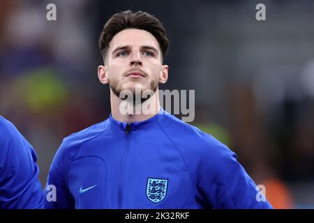
[(149, 13), (142, 11), (133, 13), (131, 10), (126, 10), (112, 15), (103, 27), (98, 44), (104, 60), (112, 38), (120, 31), (132, 28), (143, 29), (151, 33), (159, 43), (163, 56), (162, 59), (165, 58), (168, 49), (168, 39), (163, 24)]

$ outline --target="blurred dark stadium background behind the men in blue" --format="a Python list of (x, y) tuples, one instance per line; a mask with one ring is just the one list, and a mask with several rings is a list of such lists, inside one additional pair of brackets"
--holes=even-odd
[(162, 89), (195, 89), (192, 124), (237, 153), (275, 208), (314, 208), (314, 1), (1, 0), (0, 115), (36, 149), (42, 185), (63, 137), (110, 114), (98, 37), (128, 9), (165, 25)]

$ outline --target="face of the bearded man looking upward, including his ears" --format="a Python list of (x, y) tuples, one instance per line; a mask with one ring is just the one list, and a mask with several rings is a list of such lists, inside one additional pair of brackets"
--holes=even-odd
[(141, 92), (156, 92), (158, 83), (167, 80), (167, 66), (162, 64), (158, 41), (142, 29), (124, 29), (112, 38), (103, 72), (118, 97), (123, 90), (135, 95), (135, 85), (141, 87)]

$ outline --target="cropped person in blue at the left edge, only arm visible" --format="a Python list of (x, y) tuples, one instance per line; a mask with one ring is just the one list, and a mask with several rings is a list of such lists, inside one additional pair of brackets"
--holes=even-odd
[(0, 116), (0, 209), (44, 208), (36, 160), (29, 142)]

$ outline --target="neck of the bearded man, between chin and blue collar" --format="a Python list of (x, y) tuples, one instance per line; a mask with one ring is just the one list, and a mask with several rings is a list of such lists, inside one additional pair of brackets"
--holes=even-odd
[(158, 89), (151, 95), (149, 99), (142, 103), (133, 105), (132, 102), (121, 100), (110, 89), (110, 104), (112, 117), (117, 121), (124, 123), (133, 123), (135, 121), (145, 121), (160, 111), (160, 102), (158, 97)]

